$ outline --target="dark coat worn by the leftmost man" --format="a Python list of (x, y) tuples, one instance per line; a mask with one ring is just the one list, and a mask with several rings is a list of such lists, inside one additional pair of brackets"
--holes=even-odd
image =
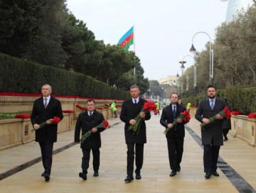
[[(63, 112), (61, 109), (60, 101), (58, 99), (55, 99), (53, 96), (50, 96), (50, 101), (46, 109), (43, 104), (43, 96), (39, 99), (36, 99), (36, 101), (33, 104), (33, 110), (31, 114), (32, 125), (36, 123), (41, 124), (47, 121), (48, 119), (53, 118), (54, 116), (63, 119)], [(51, 140), (53, 142), (56, 142), (57, 130), (58, 124), (50, 124), (44, 126), (43, 128), (39, 128), (38, 130), (36, 130), (36, 141), (43, 142), (46, 140), (46, 137), (50, 136)]]

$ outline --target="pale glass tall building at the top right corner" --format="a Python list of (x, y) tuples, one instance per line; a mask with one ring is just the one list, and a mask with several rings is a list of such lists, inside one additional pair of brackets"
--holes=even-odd
[(238, 11), (242, 9), (247, 9), (248, 6), (253, 4), (252, 0), (228, 0), (228, 11), (226, 16), (226, 22), (229, 23), (233, 21), (233, 16), (235, 16)]

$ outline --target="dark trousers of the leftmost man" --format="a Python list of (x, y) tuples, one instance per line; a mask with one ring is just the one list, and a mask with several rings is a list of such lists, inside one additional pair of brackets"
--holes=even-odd
[(43, 161), (44, 172), (50, 175), (51, 166), (53, 163), (53, 141), (48, 137), (46, 141), (39, 142)]

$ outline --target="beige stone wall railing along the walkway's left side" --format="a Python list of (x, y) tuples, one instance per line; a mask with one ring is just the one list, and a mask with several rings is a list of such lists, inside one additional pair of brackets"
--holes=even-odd
[[(76, 107), (77, 104), (86, 108), (87, 99), (80, 98), (64, 98), (56, 97), (60, 100), (63, 110), (73, 110), (74, 114), (64, 114), (63, 120), (58, 123), (58, 132), (68, 131), (75, 128), (75, 123), (78, 115), (82, 112)], [(32, 111), (33, 102), (38, 99), (34, 96), (0, 96), (0, 113), (17, 112), (17, 111)], [(114, 99), (95, 99), (96, 106), (104, 107), (105, 104), (110, 104)], [(117, 101), (117, 105), (122, 105), (122, 100)], [(114, 117), (111, 109), (97, 109), (101, 112), (105, 119)], [(119, 116), (121, 107), (117, 108)], [(27, 143), (35, 139), (35, 132), (31, 132), (33, 126), (30, 118), (14, 118), (0, 120), (0, 150), (9, 148), (13, 145)]]

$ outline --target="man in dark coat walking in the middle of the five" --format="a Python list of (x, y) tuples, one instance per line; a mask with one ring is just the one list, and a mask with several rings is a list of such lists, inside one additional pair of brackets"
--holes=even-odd
[[(143, 165), (143, 150), (144, 143), (146, 143), (146, 124), (145, 120), (149, 120), (151, 118), (150, 113), (144, 114), (142, 111), (144, 103), (146, 102), (144, 99), (139, 98), (139, 87), (137, 85), (133, 85), (130, 87), (130, 93), (132, 95), (132, 99), (128, 99), (124, 101), (122, 104), (122, 111), (120, 115), (120, 119), (124, 121), (124, 136), (125, 142), (127, 143), (127, 178), (124, 182), (132, 182), (134, 180), (133, 172), (134, 172), (134, 146), (135, 146), (135, 164), (136, 164), (136, 179), (142, 179), (140, 175), (140, 170)], [(134, 119), (137, 115), (140, 115), (142, 119), (142, 124), (139, 128), (139, 133), (134, 133), (134, 131), (129, 130), (130, 125), (135, 125), (137, 122)]]

